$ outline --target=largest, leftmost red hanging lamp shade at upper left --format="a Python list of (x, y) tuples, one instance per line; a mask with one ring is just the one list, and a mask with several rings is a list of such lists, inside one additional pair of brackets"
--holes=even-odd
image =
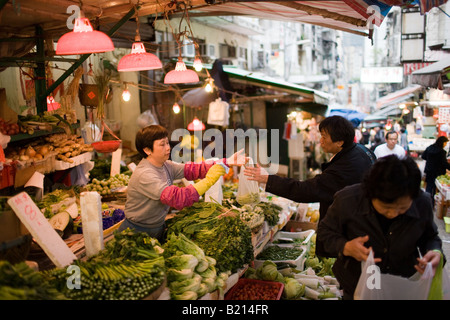
[(56, 44), (56, 54), (73, 55), (113, 51), (114, 44), (106, 33), (94, 30), (88, 18), (75, 19), (73, 31), (64, 34)]

